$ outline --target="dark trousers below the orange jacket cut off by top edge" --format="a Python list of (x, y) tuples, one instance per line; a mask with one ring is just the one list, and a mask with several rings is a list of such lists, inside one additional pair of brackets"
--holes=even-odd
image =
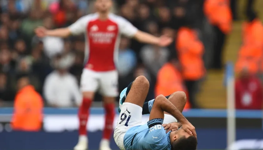
[(214, 41), (214, 54), (213, 54), (213, 65), (214, 69), (222, 69), (222, 52), (226, 35), (217, 27), (214, 27), (215, 41)]

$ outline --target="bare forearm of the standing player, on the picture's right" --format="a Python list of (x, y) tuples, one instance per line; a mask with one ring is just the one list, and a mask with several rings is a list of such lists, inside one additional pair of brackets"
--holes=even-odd
[(135, 36), (135, 39), (137, 41), (142, 42), (142, 43), (148, 43), (148, 44), (154, 44), (157, 45), (159, 43), (159, 37), (155, 37), (149, 33), (138, 31)]

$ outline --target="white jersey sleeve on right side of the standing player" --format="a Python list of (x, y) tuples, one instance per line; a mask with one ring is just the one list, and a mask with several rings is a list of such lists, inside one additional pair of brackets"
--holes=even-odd
[(131, 22), (126, 20), (123, 17), (119, 18), (120, 23), (120, 32), (121, 34), (125, 35), (126, 37), (134, 37), (134, 35), (137, 33), (138, 29), (134, 27)]

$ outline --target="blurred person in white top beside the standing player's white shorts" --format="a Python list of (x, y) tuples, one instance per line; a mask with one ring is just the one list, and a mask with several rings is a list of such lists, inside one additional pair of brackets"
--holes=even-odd
[(57, 56), (53, 63), (55, 70), (46, 77), (43, 87), (48, 105), (52, 107), (79, 106), (81, 94), (78, 81), (68, 72), (70, 66), (67, 59)]

